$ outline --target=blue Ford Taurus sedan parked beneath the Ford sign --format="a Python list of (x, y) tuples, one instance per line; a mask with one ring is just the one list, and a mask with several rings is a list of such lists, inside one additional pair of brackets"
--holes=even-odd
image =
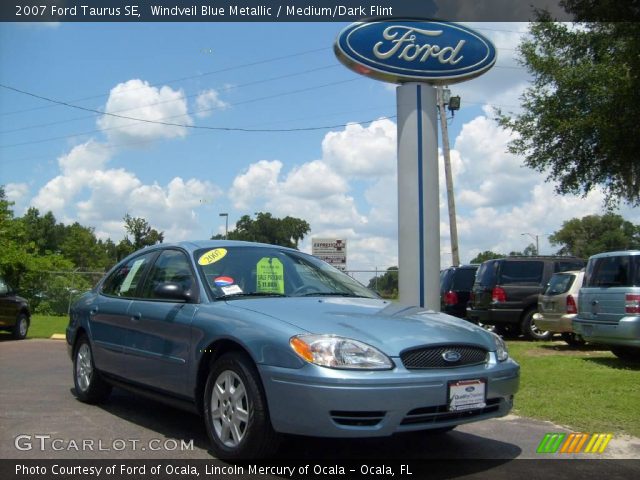
[(224, 459), (270, 455), (283, 433), (445, 432), (506, 415), (519, 380), (497, 335), (246, 242), (130, 255), (73, 306), (67, 342), (81, 401), (115, 385), (202, 413)]

